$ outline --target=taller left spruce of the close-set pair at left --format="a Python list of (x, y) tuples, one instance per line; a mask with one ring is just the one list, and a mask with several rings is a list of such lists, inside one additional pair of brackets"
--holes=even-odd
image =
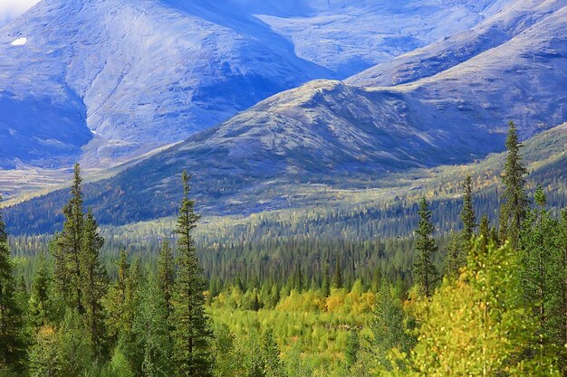
[(79, 164), (75, 164), (71, 187), (71, 199), (63, 206), (65, 221), (63, 230), (54, 238), (55, 259), (54, 280), (67, 306), (75, 307), (82, 313), (81, 300), (81, 248), (84, 234), (84, 213), (82, 208), (82, 177)]

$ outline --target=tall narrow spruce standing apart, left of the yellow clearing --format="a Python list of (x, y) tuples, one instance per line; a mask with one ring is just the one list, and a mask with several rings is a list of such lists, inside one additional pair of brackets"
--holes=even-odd
[(178, 274), (173, 295), (173, 324), (175, 330), (174, 359), (180, 376), (205, 377), (212, 375), (209, 328), (205, 312), (206, 288), (202, 270), (198, 266), (197, 250), (192, 232), (199, 216), (194, 212), (194, 202), (189, 199), (189, 179), (182, 174), (183, 199), (179, 208), (178, 226)]

